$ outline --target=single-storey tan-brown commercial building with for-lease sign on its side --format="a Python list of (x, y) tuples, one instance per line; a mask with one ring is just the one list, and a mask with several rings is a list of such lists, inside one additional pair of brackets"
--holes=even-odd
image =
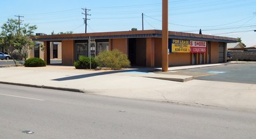
[[(118, 49), (129, 57), (132, 66), (162, 66), (162, 31), (77, 33), (40, 35), (44, 60), (50, 64), (51, 42), (61, 43), (63, 65), (73, 65), (79, 56), (97, 56)], [(237, 39), (195, 33), (169, 32), (169, 66), (226, 62), (227, 43)]]

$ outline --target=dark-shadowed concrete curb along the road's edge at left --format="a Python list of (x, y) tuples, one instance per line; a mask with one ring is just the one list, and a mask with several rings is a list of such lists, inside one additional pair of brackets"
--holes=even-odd
[(79, 92), (79, 93), (86, 93), (83, 90), (75, 89), (75, 88), (63, 88), (63, 87), (49, 87), (44, 85), (29, 85), (25, 83), (10, 83), (10, 82), (0, 82), (6, 85), (18, 85), (23, 87), (34, 87), (34, 88), (46, 88), (46, 89), (53, 89), (53, 90), (63, 90), (63, 91), (70, 91), (70, 92)]

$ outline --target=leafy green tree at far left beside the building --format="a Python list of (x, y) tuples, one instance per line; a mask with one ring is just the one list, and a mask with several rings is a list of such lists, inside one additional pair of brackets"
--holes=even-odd
[(20, 21), (15, 19), (8, 19), (3, 24), (0, 34), (1, 44), (4, 51), (9, 54), (12, 55), (14, 50), (18, 50), (21, 57), (27, 59), (29, 50), (35, 46), (35, 42), (31, 38), (35, 37), (34, 31), (37, 27), (35, 25), (30, 26), (29, 24), (24, 24), (19, 28), (19, 25)]

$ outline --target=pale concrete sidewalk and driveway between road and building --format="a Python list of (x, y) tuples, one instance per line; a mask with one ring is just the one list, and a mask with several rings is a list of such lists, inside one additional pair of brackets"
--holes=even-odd
[(256, 112), (256, 84), (202, 80), (172, 82), (156, 79), (171, 76), (143, 72), (148, 70), (90, 71), (74, 69), (72, 66), (10, 67), (0, 68), (0, 78), (1, 83), (30, 87)]

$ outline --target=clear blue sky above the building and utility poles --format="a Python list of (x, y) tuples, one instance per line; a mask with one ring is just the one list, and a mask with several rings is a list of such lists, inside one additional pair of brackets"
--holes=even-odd
[[(72, 31), (84, 33), (84, 15), (89, 11), (87, 32), (162, 29), (161, 0), (8, 0), (0, 1), (0, 25), (8, 18), (24, 16), (23, 23), (37, 25), (36, 32), (50, 34)], [(241, 37), (256, 45), (255, 0), (169, 0), (169, 30), (225, 37)]]

